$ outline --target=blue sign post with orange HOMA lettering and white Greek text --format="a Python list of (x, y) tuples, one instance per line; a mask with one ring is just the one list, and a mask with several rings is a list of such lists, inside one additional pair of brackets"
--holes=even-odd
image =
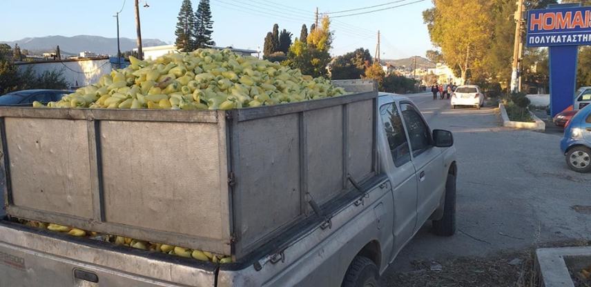
[(591, 7), (557, 4), (527, 12), (527, 47), (549, 47), (550, 114), (571, 108), (579, 46), (591, 45)]

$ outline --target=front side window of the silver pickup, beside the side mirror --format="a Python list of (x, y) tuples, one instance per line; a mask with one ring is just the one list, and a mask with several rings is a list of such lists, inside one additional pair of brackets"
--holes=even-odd
[(403, 111), (405, 126), (408, 130), (412, 155), (415, 157), (431, 147), (431, 136), (429, 126), (420, 117), (420, 112), (409, 103), (400, 103)]

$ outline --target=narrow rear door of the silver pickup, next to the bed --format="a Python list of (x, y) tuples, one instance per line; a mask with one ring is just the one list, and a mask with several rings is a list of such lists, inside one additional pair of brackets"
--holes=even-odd
[(394, 233), (393, 255), (396, 255), (414, 234), (417, 180), (406, 132), (396, 103), (387, 103), (380, 107), (380, 123), (385, 131), (382, 133), (380, 130), (380, 141), (387, 141), (380, 144), (380, 150), (385, 150), (382, 155), (382, 167), (391, 181), (394, 197), (392, 232)]

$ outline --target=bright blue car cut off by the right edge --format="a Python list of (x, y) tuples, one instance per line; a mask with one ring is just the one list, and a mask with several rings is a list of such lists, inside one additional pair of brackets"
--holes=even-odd
[(564, 130), (560, 149), (568, 167), (577, 172), (591, 171), (591, 105), (577, 112)]

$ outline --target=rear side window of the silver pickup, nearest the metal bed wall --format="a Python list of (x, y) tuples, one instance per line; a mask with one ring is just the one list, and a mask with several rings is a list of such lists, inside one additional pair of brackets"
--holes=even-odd
[(403, 166), (410, 161), (410, 149), (396, 103), (388, 103), (382, 106), (380, 116), (386, 130), (394, 165), (396, 167)]

